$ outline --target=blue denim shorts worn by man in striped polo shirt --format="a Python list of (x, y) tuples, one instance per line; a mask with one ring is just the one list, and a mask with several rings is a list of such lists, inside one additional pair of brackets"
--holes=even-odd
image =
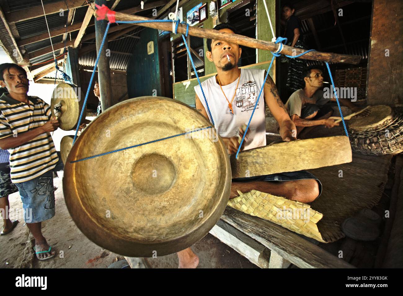
[(39, 177), (15, 183), (21, 195), (25, 223), (37, 223), (52, 218), (54, 210), (54, 187), (52, 170)]

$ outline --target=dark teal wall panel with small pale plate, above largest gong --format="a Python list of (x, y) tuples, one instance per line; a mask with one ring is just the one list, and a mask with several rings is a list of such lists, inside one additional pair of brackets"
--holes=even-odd
[[(143, 95), (161, 95), (158, 30), (145, 28), (141, 32), (140, 38), (127, 66), (129, 98)], [(147, 54), (147, 43), (150, 41), (154, 41), (153, 54)]]

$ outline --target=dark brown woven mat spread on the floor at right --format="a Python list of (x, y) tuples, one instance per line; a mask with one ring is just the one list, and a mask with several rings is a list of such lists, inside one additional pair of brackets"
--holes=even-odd
[[(388, 181), (392, 155), (361, 155), (353, 153), (348, 164), (310, 170), (322, 183), (322, 195), (312, 203), (312, 209), (323, 213), (318, 229), (325, 242), (344, 237), (343, 221), (360, 209), (376, 205)], [(339, 178), (339, 170), (343, 177)]]

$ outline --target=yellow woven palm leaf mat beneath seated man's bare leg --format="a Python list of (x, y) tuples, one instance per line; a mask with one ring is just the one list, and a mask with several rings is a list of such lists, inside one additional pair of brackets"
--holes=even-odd
[(290, 201), (284, 197), (252, 190), (248, 193), (238, 191), (239, 197), (230, 199), (230, 207), (272, 221), (284, 228), (324, 242), (316, 223), (323, 215), (310, 205), (299, 201)]

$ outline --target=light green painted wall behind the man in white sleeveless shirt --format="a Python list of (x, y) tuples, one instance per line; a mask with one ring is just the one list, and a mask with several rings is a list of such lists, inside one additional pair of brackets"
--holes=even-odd
[[(224, 23), (226, 22), (226, 10), (233, 7), (237, 3), (239, 3), (241, 0), (237, 0), (236, 2), (233, 2), (232, 4), (222, 8), (219, 10), (220, 13), (220, 22)], [(183, 19), (185, 21), (186, 19), (186, 12), (202, 2), (203, 4), (208, 2), (208, 5), (210, 4), (210, 1), (199, 1), (199, 0), (190, 0), (183, 6)], [(273, 24), (273, 29), (274, 32), (276, 32), (276, 14), (275, 14), (275, 9), (276, 9), (276, 1), (275, 0), (266, 0), (267, 7), (269, 10), (270, 18), (272, 20)], [(208, 6), (207, 5), (207, 6)], [(272, 33), (270, 30), (270, 25), (269, 21), (267, 18), (266, 10), (264, 8), (263, 0), (257, 0), (257, 27), (258, 27), (258, 39), (260, 40), (266, 40), (266, 41), (271, 41), (272, 39)], [(204, 29), (212, 29), (213, 28), (213, 19), (208, 17), (206, 21), (203, 22), (203, 28)], [(171, 34), (171, 40), (181, 37), (180, 34), (174, 35), (173, 33)], [(204, 52), (207, 51), (207, 43), (206, 39), (204, 39)], [(258, 50), (258, 62), (259, 65), (252, 66), (250, 68), (258, 68), (258, 69), (267, 69), (269, 62), (272, 58), (272, 55), (270, 52), (266, 50)], [(260, 64), (262, 62), (267, 62), (264, 64)], [(242, 67), (245, 68), (245, 67)], [(249, 67), (247, 67), (249, 68)], [(210, 62), (206, 55), (204, 55), (204, 73), (206, 76), (200, 77), (200, 81), (204, 81), (208, 78), (211, 77), (211, 75), (216, 73), (216, 66)], [(274, 71), (274, 66), (272, 70), (270, 70), (270, 76), (273, 77), (273, 71)], [(190, 82), (190, 84), (189, 84)], [(193, 90), (193, 87), (197, 84), (197, 79), (190, 79), (178, 83), (174, 83), (174, 99), (178, 99), (179, 101), (182, 101), (184, 103), (187, 103), (188, 105), (194, 106), (195, 104), (195, 92)]]

